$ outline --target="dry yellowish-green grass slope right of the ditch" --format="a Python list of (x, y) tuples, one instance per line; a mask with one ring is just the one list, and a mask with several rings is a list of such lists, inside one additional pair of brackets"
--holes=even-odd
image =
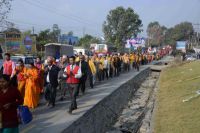
[(155, 133), (200, 133), (200, 62), (173, 66), (161, 73), (155, 112)]

